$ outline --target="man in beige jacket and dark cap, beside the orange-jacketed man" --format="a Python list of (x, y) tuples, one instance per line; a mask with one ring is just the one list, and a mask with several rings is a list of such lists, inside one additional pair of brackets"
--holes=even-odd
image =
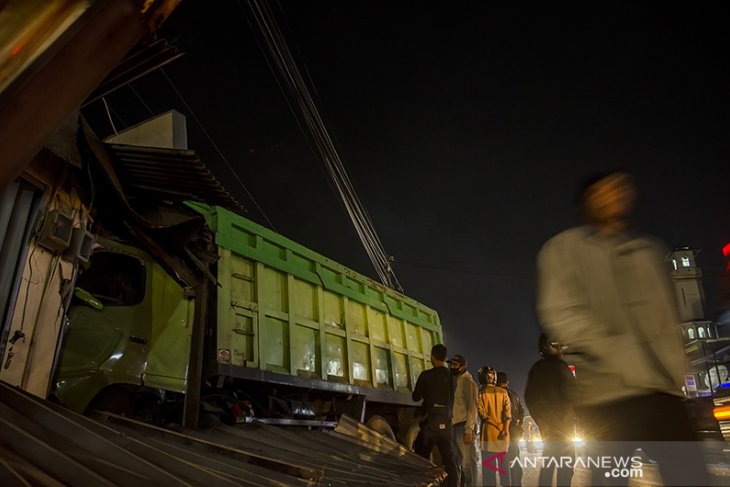
[(477, 453), (477, 383), (466, 370), (466, 358), (454, 355), (449, 360), (451, 373), (456, 377), (454, 393), (454, 442), (461, 453), (462, 485), (479, 485), (479, 456)]

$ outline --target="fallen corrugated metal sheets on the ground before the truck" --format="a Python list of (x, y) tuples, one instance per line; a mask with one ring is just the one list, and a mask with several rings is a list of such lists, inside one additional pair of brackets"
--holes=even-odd
[(438, 485), (443, 470), (343, 418), (335, 431), (254, 422), (163, 429), (99, 420), (0, 382), (2, 485)]

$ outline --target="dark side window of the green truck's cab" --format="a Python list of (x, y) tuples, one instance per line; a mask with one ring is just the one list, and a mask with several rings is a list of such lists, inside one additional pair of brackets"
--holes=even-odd
[(76, 286), (91, 293), (104, 306), (131, 306), (144, 298), (145, 270), (136, 257), (97, 252), (79, 275)]

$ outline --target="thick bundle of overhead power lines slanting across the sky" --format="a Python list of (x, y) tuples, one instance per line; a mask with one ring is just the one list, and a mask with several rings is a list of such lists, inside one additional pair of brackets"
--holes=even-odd
[(339, 194), (380, 281), (392, 289), (403, 291), (370, 215), (355, 191), (330, 132), (312, 98), (311, 92), (315, 89), (311, 78), (308, 84), (302, 76), (268, 2), (248, 0), (248, 6), (254, 20), (252, 27), (262, 40), (260, 45), (264, 56), (297, 122), (305, 129), (310, 146), (324, 164), (329, 180), (335, 192)]

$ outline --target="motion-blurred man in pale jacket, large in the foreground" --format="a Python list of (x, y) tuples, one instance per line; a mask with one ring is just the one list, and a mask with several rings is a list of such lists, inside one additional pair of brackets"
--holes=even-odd
[[(585, 224), (538, 256), (537, 311), (547, 333), (570, 347), (574, 405), (588, 432), (606, 442), (661, 441), (646, 453), (665, 485), (702, 485), (699, 448), (671, 443), (696, 439), (681, 391), (684, 349), (667, 250), (630, 225), (635, 200), (625, 171), (586, 180), (578, 195)], [(610, 476), (594, 474), (594, 484)]]

